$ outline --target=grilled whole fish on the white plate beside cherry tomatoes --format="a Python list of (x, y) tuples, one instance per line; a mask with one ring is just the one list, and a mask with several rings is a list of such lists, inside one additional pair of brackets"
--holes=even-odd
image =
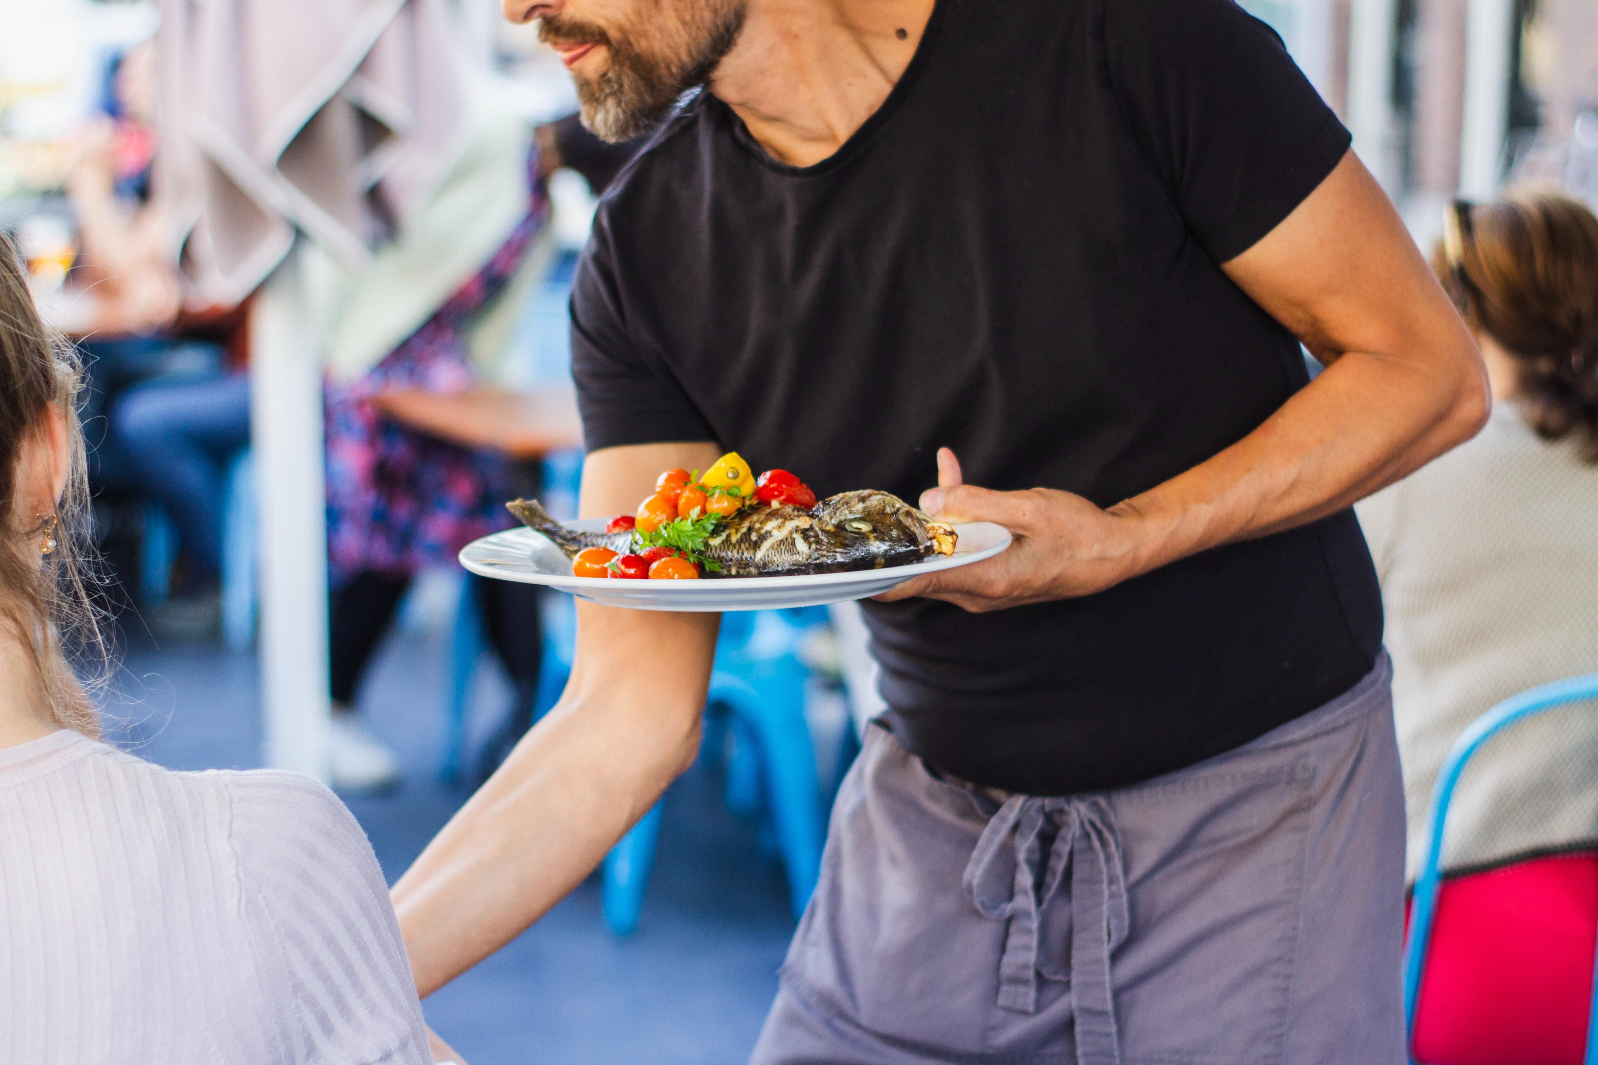
[[(583, 548), (634, 551), (633, 533), (588, 533), (561, 525), (537, 500), (505, 505), (527, 529), (551, 540), (566, 557)], [(887, 492), (844, 492), (813, 508), (746, 506), (722, 519), (705, 543), (721, 567), (705, 576), (788, 576), (879, 570), (954, 554), (956, 532)]]

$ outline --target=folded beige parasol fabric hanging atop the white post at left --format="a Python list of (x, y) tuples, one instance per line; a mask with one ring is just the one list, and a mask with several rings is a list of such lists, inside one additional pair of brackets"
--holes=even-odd
[(200, 300), (296, 228), (352, 271), (407, 232), (473, 131), (457, 34), (449, 0), (161, 0), (158, 184)]

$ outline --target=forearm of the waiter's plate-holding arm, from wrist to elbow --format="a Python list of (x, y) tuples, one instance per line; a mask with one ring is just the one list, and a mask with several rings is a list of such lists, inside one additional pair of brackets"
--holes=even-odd
[(1133, 572), (1333, 514), (1477, 433), (1473, 359), (1338, 358), (1264, 425), (1111, 514), (1139, 527)]

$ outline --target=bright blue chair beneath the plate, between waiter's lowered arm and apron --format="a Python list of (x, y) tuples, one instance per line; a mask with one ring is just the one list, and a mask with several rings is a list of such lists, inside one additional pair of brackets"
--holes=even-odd
[[(804, 719), (809, 669), (796, 658), (802, 628), (780, 612), (725, 615), (706, 706), (724, 709), (733, 734), (727, 805), (767, 811), (797, 918), (821, 872), (826, 821), (815, 750)], [(660, 803), (606, 856), (601, 896), (610, 931), (638, 928), (660, 837)]]

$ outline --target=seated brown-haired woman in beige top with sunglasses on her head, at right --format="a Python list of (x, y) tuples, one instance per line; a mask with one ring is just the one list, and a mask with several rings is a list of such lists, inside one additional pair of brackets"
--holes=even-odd
[[(1598, 219), (1532, 192), (1456, 203), (1445, 233), (1432, 267), (1497, 404), (1473, 441), (1355, 508), (1387, 613), (1409, 880), (1465, 726), (1598, 671)], [(1449, 814), (1451, 867), (1598, 840), (1598, 720), (1580, 709), (1483, 750)], [(1528, 800), (1536, 824), (1517, 816)]]

